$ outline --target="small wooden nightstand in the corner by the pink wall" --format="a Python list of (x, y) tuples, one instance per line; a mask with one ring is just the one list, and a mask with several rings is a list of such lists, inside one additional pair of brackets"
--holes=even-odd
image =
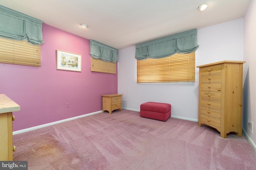
[(113, 110), (120, 109), (122, 111), (122, 95), (123, 94), (103, 94), (102, 113), (106, 110), (111, 115)]

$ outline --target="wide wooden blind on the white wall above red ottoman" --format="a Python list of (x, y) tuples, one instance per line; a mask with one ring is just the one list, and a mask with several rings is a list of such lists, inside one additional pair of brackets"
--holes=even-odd
[(195, 52), (162, 59), (137, 60), (137, 82), (194, 82)]

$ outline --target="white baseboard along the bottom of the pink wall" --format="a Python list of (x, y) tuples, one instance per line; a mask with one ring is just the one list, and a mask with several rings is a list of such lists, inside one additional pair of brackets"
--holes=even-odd
[(22, 129), (22, 130), (19, 130), (19, 131), (14, 131), (14, 132), (12, 132), (12, 135), (17, 135), (19, 133), (24, 133), (24, 132), (32, 131), (32, 130), (35, 130), (35, 129), (40, 129), (42, 127), (47, 127), (47, 126), (50, 126), (50, 125), (55, 125), (55, 124), (58, 124), (58, 123), (62, 123), (62, 122), (65, 122), (65, 121), (70, 121), (70, 120), (78, 119), (78, 118), (81, 118), (81, 117), (86, 117), (86, 116), (94, 115), (94, 114), (97, 114), (97, 113), (102, 113), (102, 110), (101, 111), (96, 111), (96, 112), (93, 112), (93, 113), (88, 113), (88, 114), (85, 114), (85, 115), (71, 117), (71, 118), (68, 118), (68, 119), (60, 120), (60, 121), (55, 121), (55, 122), (52, 122), (52, 123), (46, 123), (44, 125), (30, 127), (30, 128), (27, 128), (27, 129)]

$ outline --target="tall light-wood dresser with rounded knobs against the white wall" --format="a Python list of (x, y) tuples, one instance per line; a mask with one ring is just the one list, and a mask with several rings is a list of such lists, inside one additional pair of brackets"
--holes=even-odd
[(242, 136), (242, 81), (245, 61), (221, 61), (199, 68), (198, 126), (214, 127), (222, 138)]

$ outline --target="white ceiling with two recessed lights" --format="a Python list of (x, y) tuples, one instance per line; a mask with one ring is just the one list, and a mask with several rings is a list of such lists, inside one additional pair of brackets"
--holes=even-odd
[[(0, 5), (122, 49), (243, 18), (251, 0), (0, 0)], [(198, 5), (209, 3), (203, 12)], [(85, 23), (88, 28), (80, 27)]]

